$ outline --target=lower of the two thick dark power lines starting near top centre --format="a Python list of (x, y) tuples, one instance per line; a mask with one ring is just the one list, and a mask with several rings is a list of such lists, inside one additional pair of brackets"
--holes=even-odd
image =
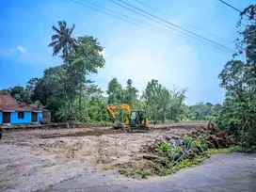
[[(146, 15), (144, 15), (144, 14), (141, 14), (140, 12), (138, 12), (138, 11), (132, 9), (132, 8), (127, 8), (127, 7), (121, 5), (121, 4), (118, 3), (118, 2), (115, 2), (115, 1), (113, 1), (113, 0), (109, 0), (109, 1), (111, 1), (111, 2), (113, 2), (113, 3), (115, 3), (115, 4), (117, 4), (117, 5), (119, 5), (119, 6), (122, 7), (122, 8), (126, 8), (126, 9), (128, 9), (128, 10), (131, 10), (132, 12), (135, 12), (136, 14), (138, 14), (138, 15), (140, 15), (140, 16), (143, 16), (143, 17), (145, 17), (145, 18), (147, 18), (147, 19), (150, 19), (151, 21), (153, 21), (153, 22), (155, 22), (155, 23), (157, 23), (157, 24), (164, 25), (164, 26), (170, 28), (171, 30), (174, 30), (174, 31), (176, 31), (176, 32), (179, 32), (179, 33), (183, 34), (183, 35), (178, 35), (178, 36), (182, 36), (182, 37), (185, 36), (185, 38), (190, 37), (190, 38), (192, 38), (192, 39), (194, 39), (194, 40), (200, 40), (203, 44), (211, 45), (211, 46), (213, 46), (214, 48), (218, 48), (218, 49), (223, 48), (223, 47), (217, 46), (216, 44), (212, 44), (212, 43), (209, 43), (208, 41), (201, 40), (201, 39), (199, 39), (199, 38), (197, 38), (197, 37), (191, 36), (191, 35), (189, 35), (189, 34), (183, 32), (183, 31), (179, 31), (179, 30), (177, 30), (177, 29), (175, 29), (175, 28), (169, 26), (168, 24), (163, 24), (163, 23), (161, 23), (161, 22), (159, 22), (159, 21), (157, 21), (157, 20), (152, 19), (152, 18), (149, 17), (149, 16), (146, 16)], [(169, 32), (169, 33), (170, 33), (170, 32)], [(177, 34), (175, 34), (175, 35), (177, 35)], [(224, 51), (224, 50), (222, 50), (222, 51)], [(231, 50), (225, 49), (225, 51), (231, 51)]]

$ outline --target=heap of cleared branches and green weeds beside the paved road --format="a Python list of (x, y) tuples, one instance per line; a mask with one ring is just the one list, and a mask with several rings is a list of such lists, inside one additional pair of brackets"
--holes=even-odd
[(151, 145), (144, 145), (134, 164), (124, 165), (119, 169), (120, 174), (128, 177), (146, 178), (151, 175), (164, 176), (175, 173), (181, 168), (200, 164), (210, 155), (204, 136), (194, 140), (191, 136), (176, 139), (177, 136), (164, 136)]

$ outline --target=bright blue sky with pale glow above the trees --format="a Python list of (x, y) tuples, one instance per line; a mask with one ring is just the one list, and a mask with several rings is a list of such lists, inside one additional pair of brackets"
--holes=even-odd
[[(83, 0), (76, 1), (88, 5)], [(153, 28), (122, 21), (71, 0), (4, 0), (0, 8), (0, 89), (25, 86), (46, 68), (62, 63), (58, 56), (52, 56), (48, 44), (54, 34), (52, 25), (65, 20), (69, 26), (75, 24), (73, 37), (93, 36), (104, 47), (104, 69), (90, 75), (100, 88), (106, 90), (113, 77), (125, 87), (130, 78), (141, 94), (149, 81), (157, 79), (169, 89), (187, 88), (186, 104), (223, 102), (224, 90), (219, 88), (217, 75), (232, 59), (232, 52), (184, 37), (168, 24), (155, 23), (109, 0), (88, 1), (143, 24), (152, 24)], [(218, 0), (139, 0), (153, 9), (136, 0), (124, 1), (235, 49), (233, 40), (237, 38), (235, 24), (239, 13)], [(239, 9), (255, 3), (227, 2)]]

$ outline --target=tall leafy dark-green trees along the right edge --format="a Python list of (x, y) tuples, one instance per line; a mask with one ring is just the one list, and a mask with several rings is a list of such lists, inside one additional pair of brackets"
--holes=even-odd
[[(218, 75), (220, 87), (226, 89), (222, 110), (216, 124), (234, 135), (242, 147), (256, 145), (256, 6), (249, 6), (241, 13), (237, 24), (239, 38), (236, 40), (237, 54), (246, 56), (245, 61), (232, 59)], [(246, 27), (241, 26), (248, 14)]]

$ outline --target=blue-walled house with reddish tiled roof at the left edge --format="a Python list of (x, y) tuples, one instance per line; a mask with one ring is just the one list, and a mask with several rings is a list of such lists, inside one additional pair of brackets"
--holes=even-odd
[(9, 94), (0, 94), (0, 124), (40, 123), (42, 109), (37, 104), (19, 102)]

